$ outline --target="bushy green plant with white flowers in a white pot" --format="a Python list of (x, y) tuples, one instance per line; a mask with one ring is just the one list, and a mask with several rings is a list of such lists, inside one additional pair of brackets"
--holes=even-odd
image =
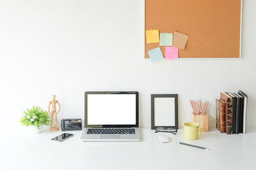
[(33, 106), (23, 112), (24, 117), (20, 118), (21, 125), (32, 127), (33, 131), (40, 133), (43, 125), (50, 125), (51, 117), (47, 111), (43, 111), (39, 106)]

